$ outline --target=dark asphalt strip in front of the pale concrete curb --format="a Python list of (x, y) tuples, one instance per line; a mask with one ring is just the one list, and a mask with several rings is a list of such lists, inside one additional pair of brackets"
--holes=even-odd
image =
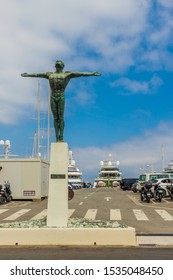
[(1, 247), (0, 260), (173, 260), (173, 248)]

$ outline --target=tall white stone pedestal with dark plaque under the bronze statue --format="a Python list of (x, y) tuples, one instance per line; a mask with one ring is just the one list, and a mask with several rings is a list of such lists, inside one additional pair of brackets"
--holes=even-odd
[(68, 222), (68, 145), (52, 143), (50, 151), (47, 226), (67, 227)]

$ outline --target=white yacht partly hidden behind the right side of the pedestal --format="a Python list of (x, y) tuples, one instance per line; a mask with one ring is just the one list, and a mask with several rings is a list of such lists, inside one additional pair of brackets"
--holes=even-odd
[(73, 159), (73, 153), (71, 150), (69, 150), (68, 183), (73, 188), (83, 187), (82, 172), (76, 166), (75, 160)]

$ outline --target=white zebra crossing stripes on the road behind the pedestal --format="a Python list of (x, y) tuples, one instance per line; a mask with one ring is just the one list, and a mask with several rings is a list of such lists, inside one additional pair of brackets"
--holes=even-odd
[[(11, 215), (8, 215), (9, 209), (0, 209), (0, 222), (13, 222), (16, 220), (25, 220), (26, 214), (27, 219), (26, 220), (36, 220), (36, 219), (43, 219), (47, 216), (47, 209), (43, 209), (38, 214), (32, 216), (32, 209), (21, 209), (19, 211), (16, 211), (12, 213)], [(133, 218), (136, 221), (152, 221), (152, 217), (149, 217), (149, 213), (145, 213), (142, 209), (131, 209), (130, 210)], [(154, 213), (162, 219), (162, 221), (173, 221), (173, 212), (171, 214), (167, 210), (163, 209), (153, 209)], [(123, 210), (122, 209), (110, 209), (109, 210), (109, 220), (111, 221), (123, 221)], [(97, 214), (99, 213), (98, 209), (88, 209), (83, 218), (96, 220)], [(77, 216), (77, 209), (69, 209), (69, 218), (75, 218)], [(5, 217), (3, 217), (5, 215)], [(126, 215), (125, 215), (126, 216)], [(28, 218), (29, 217), (29, 218)]]

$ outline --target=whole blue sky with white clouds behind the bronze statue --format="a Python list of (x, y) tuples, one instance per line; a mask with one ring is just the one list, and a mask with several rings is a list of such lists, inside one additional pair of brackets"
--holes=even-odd
[(11, 154), (32, 155), (39, 81), (46, 156), (48, 84), (20, 74), (54, 71), (61, 59), (66, 71), (102, 73), (71, 80), (65, 92), (64, 138), (84, 179), (94, 179), (109, 153), (124, 177), (148, 165), (167, 166), (173, 159), (173, 1), (3, 2), (0, 140), (10, 140)]

